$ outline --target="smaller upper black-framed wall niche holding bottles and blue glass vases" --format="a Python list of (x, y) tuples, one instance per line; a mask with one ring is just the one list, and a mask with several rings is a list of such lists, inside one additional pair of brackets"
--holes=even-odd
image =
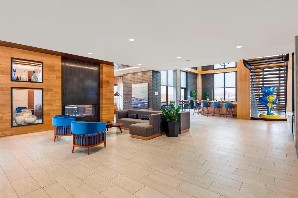
[(43, 72), (44, 62), (42, 61), (13, 57), (10, 59), (10, 81), (43, 83)]

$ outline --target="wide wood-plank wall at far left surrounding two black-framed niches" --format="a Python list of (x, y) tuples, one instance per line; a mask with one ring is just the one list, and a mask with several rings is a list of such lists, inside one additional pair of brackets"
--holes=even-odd
[[(10, 81), (10, 58), (44, 62), (44, 83)], [(44, 123), (10, 127), (10, 87), (44, 88)], [(61, 57), (0, 46), (0, 137), (53, 129), (52, 116), (61, 114)]]

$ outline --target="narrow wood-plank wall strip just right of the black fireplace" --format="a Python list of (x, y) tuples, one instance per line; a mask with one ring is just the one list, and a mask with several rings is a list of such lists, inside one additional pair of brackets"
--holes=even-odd
[(100, 121), (114, 119), (114, 66), (100, 65)]

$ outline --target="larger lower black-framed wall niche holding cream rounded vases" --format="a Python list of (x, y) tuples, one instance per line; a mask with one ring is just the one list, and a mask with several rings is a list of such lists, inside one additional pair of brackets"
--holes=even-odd
[(44, 123), (44, 89), (11, 87), (11, 127)]

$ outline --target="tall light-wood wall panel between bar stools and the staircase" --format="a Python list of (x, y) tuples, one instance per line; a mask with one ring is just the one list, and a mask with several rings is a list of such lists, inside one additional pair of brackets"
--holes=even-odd
[(237, 62), (237, 118), (250, 120), (250, 70)]

